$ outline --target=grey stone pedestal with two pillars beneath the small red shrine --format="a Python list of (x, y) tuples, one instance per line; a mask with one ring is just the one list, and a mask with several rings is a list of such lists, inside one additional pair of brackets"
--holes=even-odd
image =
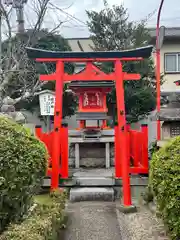
[[(69, 133), (69, 166), (110, 168), (114, 166), (114, 131), (105, 131), (98, 139), (83, 139), (79, 131)], [(109, 135), (106, 136), (109, 131)]]

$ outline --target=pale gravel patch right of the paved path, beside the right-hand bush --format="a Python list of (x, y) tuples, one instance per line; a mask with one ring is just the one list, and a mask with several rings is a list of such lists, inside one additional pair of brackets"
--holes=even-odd
[(123, 240), (169, 240), (162, 221), (145, 206), (138, 207), (136, 213), (116, 212)]

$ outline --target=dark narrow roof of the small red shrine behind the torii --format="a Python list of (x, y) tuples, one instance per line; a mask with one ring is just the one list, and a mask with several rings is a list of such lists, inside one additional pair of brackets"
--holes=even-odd
[(113, 87), (113, 81), (72, 81), (69, 87)]

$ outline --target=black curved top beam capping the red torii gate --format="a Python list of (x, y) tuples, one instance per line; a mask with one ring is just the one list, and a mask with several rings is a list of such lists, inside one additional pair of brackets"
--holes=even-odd
[(29, 48), (27, 47), (27, 54), (29, 58), (37, 59), (37, 58), (65, 58), (65, 59), (106, 59), (106, 58), (149, 58), (152, 53), (153, 46), (146, 46), (136, 49), (129, 49), (124, 51), (101, 51), (101, 52), (60, 52), (60, 51), (49, 51), (37, 48)]

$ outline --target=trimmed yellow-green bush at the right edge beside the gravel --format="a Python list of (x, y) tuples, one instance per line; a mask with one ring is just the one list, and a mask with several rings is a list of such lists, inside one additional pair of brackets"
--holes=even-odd
[(180, 239), (180, 136), (153, 154), (150, 186), (172, 239)]

